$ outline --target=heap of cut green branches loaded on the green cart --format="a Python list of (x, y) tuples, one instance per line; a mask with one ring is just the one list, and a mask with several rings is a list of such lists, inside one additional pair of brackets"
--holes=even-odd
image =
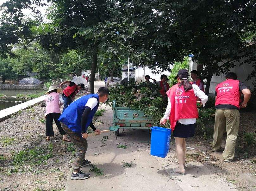
[[(164, 116), (167, 101), (159, 94), (158, 85), (153, 84), (152, 89), (144, 82), (116, 84), (109, 88), (109, 99), (106, 104), (112, 106), (116, 100), (116, 107), (130, 107), (144, 112), (153, 118), (154, 125), (160, 126), (159, 122)], [(166, 127), (169, 127), (168, 124)]]

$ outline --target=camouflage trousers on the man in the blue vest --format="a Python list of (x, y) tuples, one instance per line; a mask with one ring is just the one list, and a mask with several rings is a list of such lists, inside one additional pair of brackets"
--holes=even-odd
[(82, 138), (81, 134), (78, 135), (77, 133), (73, 132), (64, 123), (61, 122), (60, 124), (61, 124), (62, 129), (67, 133), (67, 135), (70, 136), (72, 142), (74, 143), (74, 145), (77, 148), (75, 160), (74, 160), (72, 167), (73, 167), (74, 172), (78, 172), (78, 171), (80, 171), (80, 166), (84, 162), (84, 156), (85, 156), (85, 153), (87, 151), (87, 146), (88, 146), (87, 141), (86, 141), (86, 139)]

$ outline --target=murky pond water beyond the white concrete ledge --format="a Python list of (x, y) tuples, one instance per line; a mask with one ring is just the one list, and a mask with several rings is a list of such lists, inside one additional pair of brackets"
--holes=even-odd
[[(17, 94), (44, 94), (44, 90), (0, 90), (0, 94), (6, 96), (16, 96)], [(26, 100), (20, 100), (17, 98), (0, 98), (0, 110), (6, 109), (25, 102)]]

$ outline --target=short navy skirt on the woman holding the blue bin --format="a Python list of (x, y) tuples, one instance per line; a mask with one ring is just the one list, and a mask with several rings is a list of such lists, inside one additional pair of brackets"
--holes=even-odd
[(195, 127), (197, 123), (184, 125), (177, 121), (173, 130), (173, 136), (180, 138), (188, 138), (195, 135)]

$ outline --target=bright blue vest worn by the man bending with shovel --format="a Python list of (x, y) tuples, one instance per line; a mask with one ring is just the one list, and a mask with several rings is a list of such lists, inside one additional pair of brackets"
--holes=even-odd
[(95, 97), (98, 101), (98, 104), (91, 110), (91, 112), (88, 115), (87, 123), (85, 125), (85, 131), (86, 131), (100, 104), (98, 94), (84, 95), (78, 98), (76, 101), (73, 101), (61, 114), (58, 120), (64, 123), (65, 125), (67, 125), (68, 128), (73, 132), (80, 134), (82, 130), (81, 117), (82, 117), (82, 114), (84, 113), (85, 104), (91, 97)]

